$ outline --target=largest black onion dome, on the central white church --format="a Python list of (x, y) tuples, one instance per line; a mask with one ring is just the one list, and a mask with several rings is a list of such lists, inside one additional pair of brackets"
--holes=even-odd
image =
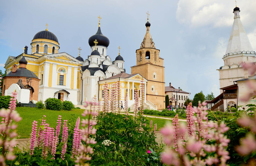
[(105, 47), (108, 47), (109, 45), (109, 40), (106, 36), (104, 36), (101, 33), (100, 27), (98, 28), (98, 31), (96, 32), (96, 34), (92, 35), (88, 40), (88, 43), (91, 47), (95, 45), (94, 44), (95, 40), (98, 41), (98, 45), (105, 46)]

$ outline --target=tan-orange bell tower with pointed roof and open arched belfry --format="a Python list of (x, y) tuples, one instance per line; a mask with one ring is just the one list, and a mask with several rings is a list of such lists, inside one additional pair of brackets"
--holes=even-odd
[(145, 26), (147, 31), (140, 44), (140, 49), (136, 50), (137, 63), (131, 67), (131, 74), (140, 73), (140, 75), (148, 80), (146, 100), (155, 104), (157, 109), (160, 110), (165, 108), (164, 59), (159, 57), (160, 50), (156, 49), (149, 33), (150, 23), (147, 22)]

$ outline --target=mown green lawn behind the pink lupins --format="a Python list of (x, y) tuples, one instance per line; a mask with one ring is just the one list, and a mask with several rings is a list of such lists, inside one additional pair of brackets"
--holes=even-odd
[[(57, 125), (57, 119), (58, 116), (61, 115), (62, 119), (70, 120), (72, 117), (75, 119), (77, 117), (81, 117), (81, 113), (84, 111), (84, 109), (72, 109), (71, 111), (54, 111), (54, 110), (48, 110), (48, 109), (37, 109), (37, 108), (23, 108), (23, 107), (17, 107), (16, 110), (20, 114), (20, 117), (22, 117), (22, 120), (18, 123), (17, 127), (17, 133), (20, 136), (19, 138), (30, 138), (32, 123), (34, 120), (40, 124), (41, 122), (39, 119), (42, 119), (43, 115), (46, 116), (46, 123), (50, 125), (50, 127), (56, 127)], [(74, 119), (73, 118), (73, 119)], [(157, 130), (164, 127), (164, 124), (166, 121), (171, 121), (167, 119), (159, 119), (159, 118), (152, 118), (152, 117), (145, 117), (146, 119), (153, 120), (153, 127), (155, 123), (157, 124)], [(172, 122), (172, 121), (171, 121)], [(73, 122), (75, 123), (75, 122)]]

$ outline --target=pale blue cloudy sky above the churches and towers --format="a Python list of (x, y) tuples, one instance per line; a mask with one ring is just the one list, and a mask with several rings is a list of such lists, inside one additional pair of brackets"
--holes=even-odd
[[(241, 21), (256, 48), (256, 1), (237, 1)], [(158, 1), (2, 1), (0, 6), (0, 70), (8, 56), (17, 56), (23, 47), (30, 48), (34, 35), (45, 29), (54, 33), (60, 52), (73, 57), (90, 55), (88, 39), (101, 31), (110, 44), (107, 54), (124, 57), (124, 68), (131, 73), (136, 64), (136, 49), (146, 33), (148, 11), (150, 33), (160, 57), (164, 58), (165, 86), (190, 92), (190, 98), (201, 90), (220, 94), (219, 72), (224, 64), (229, 34), (233, 24), (233, 0), (158, 0)], [(30, 50), (29, 50), (30, 51)], [(28, 51), (28, 52), (29, 52)]]

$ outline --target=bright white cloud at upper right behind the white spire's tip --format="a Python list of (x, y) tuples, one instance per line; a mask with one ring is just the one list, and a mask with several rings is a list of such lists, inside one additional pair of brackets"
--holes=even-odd
[[(252, 16), (256, 14), (253, 9), (256, 5), (255, 0), (247, 0), (241, 4), (238, 4), (242, 13), (240, 14), (243, 20), (248, 18), (252, 19)], [(254, 6), (254, 7), (253, 7)], [(180, 23), (188, 24), (192, 27), (200, 27), (210, 25), (212, 27), (225, 27), (232, 26), (234, 4), (230, 1), (223, 0), (179, 0), (176, 19)], [(250, 20), (255, 21), (254, 20)]]

